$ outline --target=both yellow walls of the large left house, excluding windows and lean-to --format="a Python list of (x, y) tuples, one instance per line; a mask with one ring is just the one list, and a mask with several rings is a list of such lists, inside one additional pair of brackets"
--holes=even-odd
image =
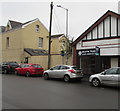
[[(36, 32), (39, 25), (39, 32)], [(0, 34), (2, 36), (2, 61), (17, 61), (21, 63), (26, 56), (24, 48), (40, 49), (38, 38), (43, 38), (43, 48), (48, 50), (48, 31), (39, 20), (26, 25), (24, 28), (9, 30)], [(6, 47), (6, 39), (9, 37), (9, 48)], [(34, 63), (34, 62), (33, 62)]]

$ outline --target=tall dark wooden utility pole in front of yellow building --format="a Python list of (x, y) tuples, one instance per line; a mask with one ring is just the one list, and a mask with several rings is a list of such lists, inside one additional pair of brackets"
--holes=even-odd
[(50, 27), (49, 27), (49, 45), (48, 45), (48, 69), (51, 65), (51, 29), (52, 29), (53, 2), (50, 4)]

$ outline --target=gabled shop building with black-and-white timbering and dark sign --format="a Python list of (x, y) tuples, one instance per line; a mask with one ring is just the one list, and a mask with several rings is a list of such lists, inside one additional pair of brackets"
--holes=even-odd
[(120, 15), (108, 11), (73, 43), (73, 65), (91, 75), (120, 67)]

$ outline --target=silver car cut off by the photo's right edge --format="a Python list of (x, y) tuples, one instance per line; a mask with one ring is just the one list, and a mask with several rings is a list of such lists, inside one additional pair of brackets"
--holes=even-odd
[(120, 84), (120, 67), (107, 69), (99, 74), (91, 75), (89, 82), (97, 87), (100, 85), (119, 86)]

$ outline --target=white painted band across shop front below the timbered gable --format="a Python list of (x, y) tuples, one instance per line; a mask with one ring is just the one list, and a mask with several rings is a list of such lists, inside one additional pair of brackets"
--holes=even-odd
[(120, 55), (118, 48), (120, 47), (120, 39), (79, 42), (76, 46), (77, 50), (93, 49), (98, 46), (100, 47), (101, 56)]

